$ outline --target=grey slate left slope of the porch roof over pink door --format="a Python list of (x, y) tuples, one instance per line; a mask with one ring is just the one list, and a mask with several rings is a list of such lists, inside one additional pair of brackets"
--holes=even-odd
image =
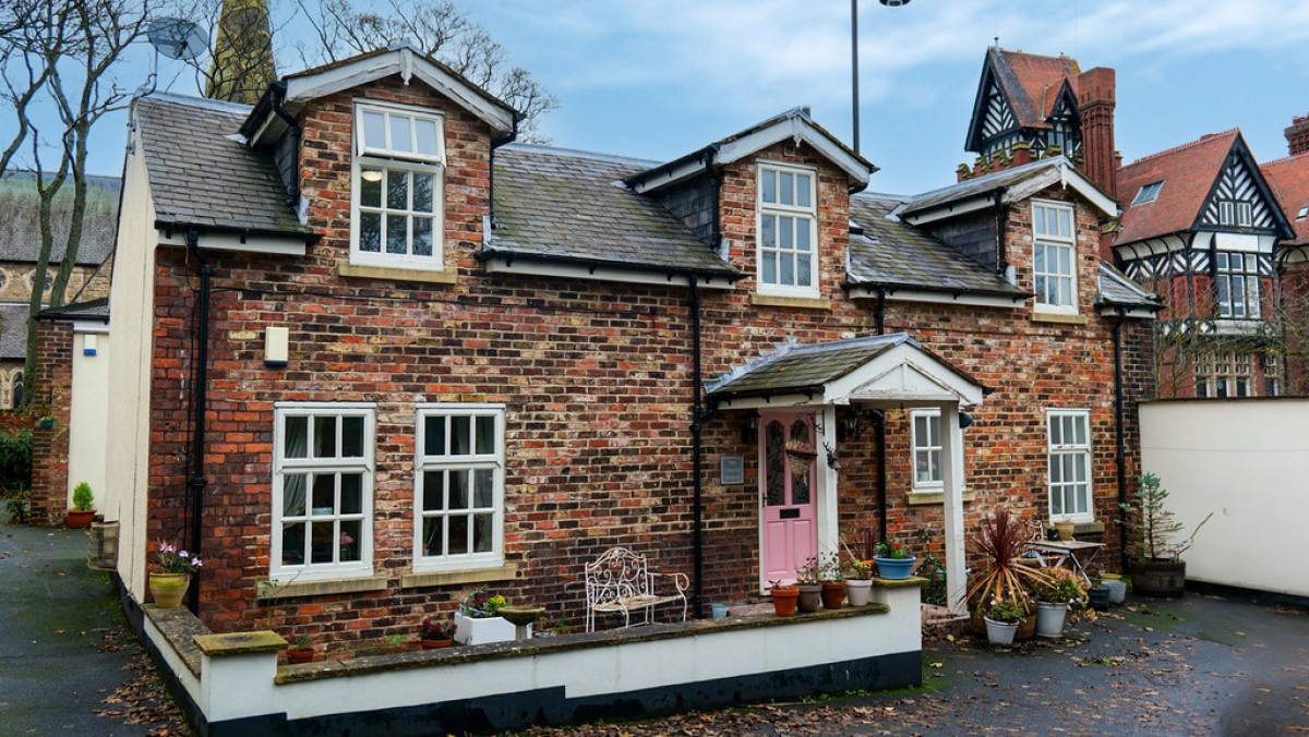
[(903, 333), (814, 346), (788, 343), (754, 364), (719, 377), (707, 387), (708, 394), (725, 399), (817, 393), (901, 343), (922, 348)]

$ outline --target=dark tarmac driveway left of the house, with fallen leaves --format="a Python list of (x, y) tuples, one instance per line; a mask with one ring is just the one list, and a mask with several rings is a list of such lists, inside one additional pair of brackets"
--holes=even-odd
[(86, 545), (82, 530), (0, 524), (3, 737), (177, 733)]

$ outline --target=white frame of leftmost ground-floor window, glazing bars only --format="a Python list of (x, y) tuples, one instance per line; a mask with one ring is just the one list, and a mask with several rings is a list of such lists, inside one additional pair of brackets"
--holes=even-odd
[[(317, 416), (335, 416), (338, 422), (347, 416), (360, 416), (364, 419), (363, 431), (363, 456), (360, 457), (340, 457), (334, 458), (314, 458), (306, 454), (305, 458), (285, 458), (285, 420), (287, 418), (310, 418), (309, 427), (313, 427), (313, 418)], [(338, 444), (340, 437), (338, 436)], [(306, 444), (309, 444), (309, 436), (306, 436)], [(272, 424), (272, 499), (271, 499), (271, 539), (270, 539), (270, 555), (268, 555), (268, 580), (272, 583), (287, 583), (287, 581), (322, 581), (322, 580), (343, 580), (343, 579), (364, 579), (373, 575), (373, 476), (377, 471), (376, 467), (376, 444), (377, 444), (377, 419), (376, 419), (376, 406), (372, 402), (276, 402), (274, 404), (274, 424)], [(312, 445), (309, 445), (312, 448)], [(350, 517), (346, 521), (353, 521), (356, 517), (360, 521), (360, 539), (356, 543), (360, 546), (359, 560), (346, 562), (346, 563), (304, 563), (300, 566), (288, 566), (281, 562), (283, 559), (283, 522), (288, 518), (284, 514), (285, 508), (285, 476), (289, 471), (297, 473), (343, 473), (343, 471), (359, 471), (361, 475), (360, 480), (360, 512), (357, 514), (342, 513), (339, 511), (330, 516), (318, 516), (313, 513), (313, 499), (309, 497), (312, 494), (312, 484), (306, 483), (305, 487), (305, 514), (292, 514), (289, 517), (298, 518), (304, 517), (308, 524), (314, 524), (313, 520), (322, 518), (322, 521), (334, 520), (334, 530), (339, 530), (339, 522), (343, 517)], [(336, 534), (336, 533), (334, 533)]]

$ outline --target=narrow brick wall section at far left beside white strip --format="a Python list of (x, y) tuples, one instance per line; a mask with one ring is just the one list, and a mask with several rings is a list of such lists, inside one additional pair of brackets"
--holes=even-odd
[[(37, 321), (31, 432), (31, 522), (55, 526), (68, 511), (68, 419), (72, 412), (73, 326)], [(50, 427), (42, 427), (42, 425)]]

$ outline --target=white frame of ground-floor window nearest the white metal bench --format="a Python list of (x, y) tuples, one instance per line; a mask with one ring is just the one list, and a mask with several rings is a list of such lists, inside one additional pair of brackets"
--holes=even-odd
[[(462, 456), (428, 456), (427, 454), (427, 419), (428, 418), (495, 418), (495, 452), (469, 453)], [(470, 439), (475, 439), (475, 427)], [(412, 537), (412, 569), (414, 572), (442, 572), (442, 571), (474, 571), (482, 568), (497, 568), (504, 566), (504, 526), (505, 526), (505, 406), (499, 403), (461, 403), (461, 402), (432, 402), (415, 406), (415, 442), (414, 442), (414, 537)], [(449, 439), (448, 439), (449, 442)], [(476, 448), (474, 448), (476, 450)], [(425, 480), (428, 471), (453, 470), (492, 470), (492, 500), (491, 513), (491, 550), (487, 552), (469, 552), (459, 555), (433, 556), (425, 555), (423, 545), (423, 521), (427, 517), (449, 517), (450, 509), (425, 511), (424, 496), (427, 494)], [(470, 482), (471, 483), (471, 482)], [(467, 509), (474, 509), (470, 492)], [(471, 528), (470, 528), (471, 529)]]

